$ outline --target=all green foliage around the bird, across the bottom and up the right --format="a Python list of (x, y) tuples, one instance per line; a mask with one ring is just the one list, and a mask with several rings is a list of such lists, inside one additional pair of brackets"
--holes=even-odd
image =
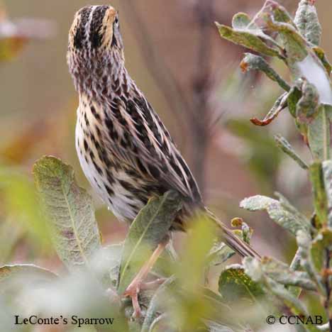
[[(301, 0), (294, 20), (282, 6), (268, 0), (253, 19), (238, 13), (232, 27), (217, 26), (223, 38), (255, 51), (255, 55), (245, 53), (240, 64), (243, 71), (260, 70), (284, 89), (267, 116), (252, 118), (251, 122), (267, 126), (288, 109), (313, 156), (306, 162), (285, 138), (275, 137), (273, 148), (280, 148), (308, 173), (314, 193), (310, 218), (281, 194), (277, 194), (278, 199), (256, 195), (240, 202), (243, 209), (267, 211), (275, 223), (296, 238), (297, 253), (292, 263), (264, 257), (225, 266), (233, 251), (216, 239), (216, 228), (204, 216), (197, 216), (182, 255), (177, 256), (170, 242), (150, 271), (148, 280), (156, 276), (165, 280), (140, 292), (143, 316), (133, 317), (132, 303), (123, 299), (123, 292), (167, 236), (182, 207), (181, 198), (175, 192), (151, 198), (131, 224), (124, 242), (104, 245), (92, 198), (77, 185), (72, 167), (56, 157), (43, 157), (33, 169), (45, 216), (38, 220), (47, 223), (53, 247), (68, 270), (57, 275), (36, 265), (0, 267), (1, 331), (14, 331), (6, 316), (35, 313), (44, 317), (114, 318), (112, 325), (96, 323), (84, 326), (84, 331), (258, 331), (267, 328), (265, 319), (270, 314), (309, 316), (311, 308), (300, 297), (308, 292), (321, 300), (326, 317), (332, 316), (331, 66), (319, 48), (321, 28), (314, 1)], [(267, 56), (289, 68), (292, 82), (272, 69), (264, 58)], [(274, 140), (262, 136), (255, 135), (253, 142), (260, 143), (262, 138), (273, 155), (275, 150), (270, 147)], [(25, 178), (21, 181), (26, 183)], [(9, 190), (10, 186), (5, 188)], [(27, 188), (30, 190), (30, 184)], [(39, 206), (33, 193), (26, 192), (33, 197), (31, 204)], [(240, 218), (234, 218), (233, 225), (242, 227), (237, 233), (249, 242), (251, 229)], [(222, 266), (217, 288), (209, 280), (209, 271), (216, 265)], [(328, 324), (297, 328), (332, 331)], [(64, 327), (67, 331), (76, 328)], [(23, 331), (20, 326), (16, 330)]]

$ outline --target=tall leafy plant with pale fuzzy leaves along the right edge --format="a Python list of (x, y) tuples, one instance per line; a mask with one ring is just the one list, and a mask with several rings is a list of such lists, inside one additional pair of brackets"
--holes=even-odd
[[(314, 193), (314, 214), (309, 220), (281, 195), (279, 201), (263, 196), (244, 199), (240, 203), (243, 209), (266, 210), (273, 221), (297, 236), (298, 242), (297, 254), (290, 266), (272, 258), (263, 258), (261, 262), (245, 258), (245, 273), (296, 315), (309, 315), (304, 302), (299, 299), (301, 290), (316, 292), (324, 303), (326, 316), (331, 317), (331, 230), (328, 222), (331, 206), (331, 67), (323, 50), (318, 48), (321, 26), (314, 1), (301, 0), (294, 21), (284, 7), (270, 0), (253, 20), (245, 14), (238, 14), (235, 18), (232, 28), (217, 24), (221, 36), (260, 53), (245, 54), (242, 70), (259, 70), (285, 90), (262, 121), (253, 118), (252, 122), (267, 126), (283, 109), (288, 109), (313, 157), (308, 166), (285, 138), (275, 137), (277, 146), (308, 172)], [(239, 18), (243, 24), (236, 23)], [(269, 31), (269, 38), (262, 35), (263, 31)], [(258, 35), (260, 40), (257, 40)], [(275, 56), (284, 62), (292, 75), (292, 83), (285, 82), (261, 55)], [(332, 326), (321, 328), (332, 330)], [(319, 331), (312, 325), (303, 325), (303, 329)]]

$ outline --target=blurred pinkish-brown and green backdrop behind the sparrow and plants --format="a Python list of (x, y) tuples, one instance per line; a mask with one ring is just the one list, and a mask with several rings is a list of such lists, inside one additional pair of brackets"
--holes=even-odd
[[(299, 154), (310, 155), (284, 111), (270, 126), (256, 127), (281, 94), (260, 74), (238, 67), (243, 48), (218, 36), (214, 21), (231, 25), (233, 14), (255, 13), (262, 0), (114, 0), (120, 12), (126, 66), (174, 136), (194, 172), (206, 204), (225, 223), (241, 216), (254, 229), (261, 253), (289, 261), (294, 243), (265, 213), (250, 214), (239, 201), (281, 192), (305, 214), (312, 206), (306, 173), (277, 150), (281, 133)], [(279, 1), (291, 13), (298, 1)], [(67, 71), (67, 33), (74, 13), (91, 1), (0, 2), (0, 265), (60, 265), (35, 211), (31, 170), (42, 155), (74, 167), (91, 192), (74, 149), (77, 94)], [(94, 1), (94, 4), (109, 4)], [(331, 1), (317, 1), (322, 47), (332, 57)], [(330, 39), (328, 39), (330, 38)], [(275, 68), (287, 79), (282, 63)], [(91, 192), (92, 193), (92, 192)], [(94, 195), (92, 193), (92, 195)], [(116, 243), (127, 226), (95, 197), (105, 243)], [(177, 245), (181, 237), (176, 237)]]

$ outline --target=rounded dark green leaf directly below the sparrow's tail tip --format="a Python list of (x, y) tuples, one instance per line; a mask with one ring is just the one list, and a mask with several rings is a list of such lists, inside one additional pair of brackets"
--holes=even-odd
[(218, 290), (229, 304), (238, 304), (241, 301), (255, 303), (264, 296), (260, 284), (248, 277), (240, 265), (231, 265), (221, 272)]

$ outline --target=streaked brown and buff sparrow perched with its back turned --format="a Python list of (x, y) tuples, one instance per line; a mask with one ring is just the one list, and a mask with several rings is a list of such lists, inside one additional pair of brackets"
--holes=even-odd
[[(204, 211), (223, 241), (241, 256), (260, 255), (204, 205), (197, 182), (153, 106), (126, 70), (118, 11), (111, 5), (85, 6), (74, 15), (67, 64), (79, 95), (75, 145), (92, 188), (120, 221), (132, 223), (151, 197), (170, 190), (183, 201), (170, 227), (187, 231), (193, 211)], [(167, 242), (167, 241), (166, 241)], [(155, 249), (128, 286), (135, 314), (138, 292), (165, 243)]]

